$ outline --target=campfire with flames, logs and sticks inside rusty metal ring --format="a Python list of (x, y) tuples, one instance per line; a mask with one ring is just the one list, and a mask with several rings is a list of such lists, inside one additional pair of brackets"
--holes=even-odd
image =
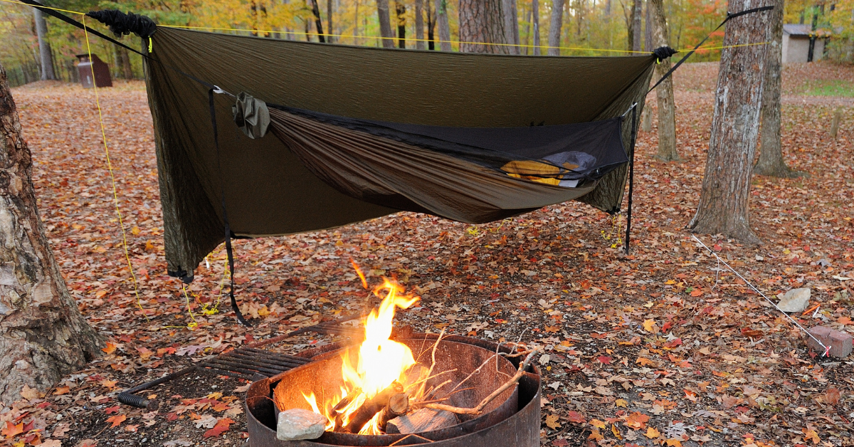
[(372, 293), (380, 303), (363, 339), (307, 352), (312, 362), (252, 385), (250, 445), (422, 444), (508, 423), (518, 445), (539, 444), (535, 350), (395, 327), (395, 310), (419, 298), (391, 279)]

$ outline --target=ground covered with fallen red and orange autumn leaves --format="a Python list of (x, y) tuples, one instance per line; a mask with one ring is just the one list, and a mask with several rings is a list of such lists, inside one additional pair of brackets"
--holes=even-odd
[[(116, 402), (121, 389), (251, 340), (361, 309), (371, 282), (396, 278), (423, 298), (399, 321), (417, 330), (517, 340), (541, 348), (543, 444), (854, 445), (852, 359), (811, 352), (802, 334), (698, 249), (683, 227), (696, 208), (717, 65), (676, 77), (683, 162), (652, 160), (641, 132), (630, 256), (624, 217), (565, 203), (488, 225), (402, 213), (334, 231), (236, 242), (249, 330), (221, 298), (224, 253), (182, 291), (166, 275), (151, 118), (141, 83), (101, 90), (122, 233), (92, 91), (25, 86), (13, 94), (33, 153), (50, 244), (79, 308), (109, 343), (102, 359), (46, 394), (26, 389), (0, 411), (14, 445), (239, 445), (245, 384), (195, 374), (149, 395), (155, 412)], [(810, 287), (804, 326), (854, 332), (854, 114), (851, 98), (806, 97), (854, 82), (854, 68), (789, 66), (783, 142), (809, 177), (757, 177), (746, 247), (700, 235), (769, 297)], [(812, 89), (812, 90), (810, 90)], [(654, 95), (650, 104), (654, 108)], [(844, 108), (839, 138), (828, 136)], [(188, 309), (189, 303), (189, 309)], [(817, 307), (816, 307), (817, 306)], [(214, 313), (216, 309), (220, 313)], [(288, 352), (330, 341), (294, 338)]]

